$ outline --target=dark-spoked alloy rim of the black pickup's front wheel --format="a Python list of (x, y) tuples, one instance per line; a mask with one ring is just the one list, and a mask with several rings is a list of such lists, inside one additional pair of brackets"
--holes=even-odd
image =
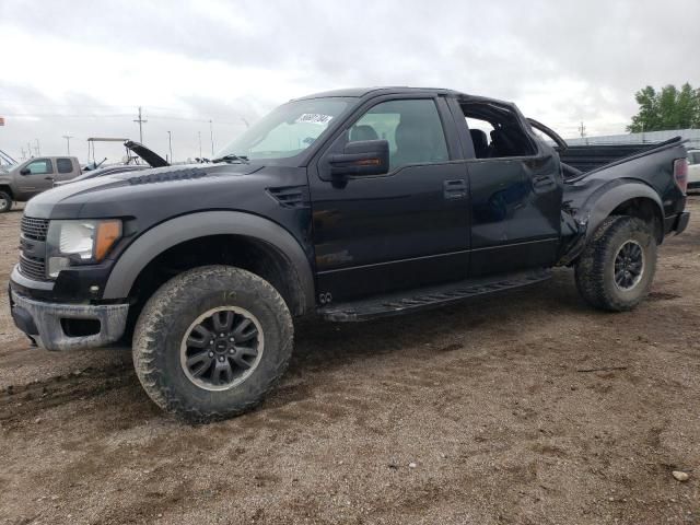
[(260, 322), (245, 308), (221, 306), (201, 314), (180, 342), (185, 376), (206, 390), (226, 390), (247, 380), (260, 363)]

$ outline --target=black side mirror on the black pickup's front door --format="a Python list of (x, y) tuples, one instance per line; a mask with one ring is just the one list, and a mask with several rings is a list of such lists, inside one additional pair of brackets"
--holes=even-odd
[(389, 143), (386, 140), (360, 140), (348, 142), (342, 153), (328, 159), (330, 174), (383, 175), (389, 171)]

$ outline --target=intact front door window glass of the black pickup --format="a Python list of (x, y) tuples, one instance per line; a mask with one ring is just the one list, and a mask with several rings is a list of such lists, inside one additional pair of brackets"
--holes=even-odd
[(348, 138), (350, 142), (387, 140), (392, 171), (450, 160), (438, 107), (428, 98), (377, 104), (350, 128)]

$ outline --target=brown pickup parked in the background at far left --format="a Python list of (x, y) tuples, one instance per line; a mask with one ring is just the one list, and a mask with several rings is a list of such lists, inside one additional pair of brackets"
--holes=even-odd
[(25, 202), (54, 186), (55, 180), (69, 180), (80, 175), (74, 156), (37, 156), (0, 174), (0, 213), (12, 202)]

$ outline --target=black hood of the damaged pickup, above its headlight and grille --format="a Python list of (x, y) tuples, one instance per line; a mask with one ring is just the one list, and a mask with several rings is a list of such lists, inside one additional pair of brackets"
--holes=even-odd
[(212, 195), (236, 191), (242, 185), (235, 183), (262, 167), (190, 164), (105, 175), (44, 191), (27, 202), (24, 212), (37, 219), (119, 217), (164, 201), (197, 203), (197, 196), (209, 201)]

